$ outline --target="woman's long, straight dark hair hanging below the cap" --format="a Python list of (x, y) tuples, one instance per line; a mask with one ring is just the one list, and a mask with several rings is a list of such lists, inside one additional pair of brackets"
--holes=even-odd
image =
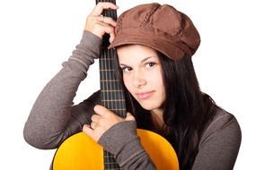
[(216, 115), (217, 106), (212, 98), (199, 89), (190, 56), (183, 56), (178, 61), (172, 61), (161, 53), (158, 53), (158, 57), (162, 64), (166, 95), (163, 109), (165, 125), (161, 129), (156, 128), (150, 112), (138, 104), (123, 84), (127, 110), (136, 117), (138, 128), (158, 132), (172, 143), (180, 169), (191, 169), (202, 132)]

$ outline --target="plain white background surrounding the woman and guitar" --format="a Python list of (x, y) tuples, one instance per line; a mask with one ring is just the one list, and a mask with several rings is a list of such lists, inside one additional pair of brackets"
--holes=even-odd
[[(119, 0), (119, 12), (149, 0)], [(249, 0), (170, 0), (198, 28), (193, 56), (201, 89), (236, 116), (243, 132), (234, 169), (255, 162), (255, 5)], [(23, 125), (44, 85), (80, 41), (93, 0), (1, 0), (1, 169), (49, 169), (55, 150), (35, 149), (22, 138)], [(75, 103), (99, 89), (97, 64), (81, 84)], [(86, 88), (85, 88), (86, 87)], [(216, 163), (217, 164), (217, 163)]]

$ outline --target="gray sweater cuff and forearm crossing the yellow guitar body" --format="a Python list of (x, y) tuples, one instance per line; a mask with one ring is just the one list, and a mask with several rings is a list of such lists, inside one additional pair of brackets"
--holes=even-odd
[(117, 123), (104, 132), (98, 141), (114, 155), (121, 169), (153, 170), (154, 163), (137, 136), (135, 121)]

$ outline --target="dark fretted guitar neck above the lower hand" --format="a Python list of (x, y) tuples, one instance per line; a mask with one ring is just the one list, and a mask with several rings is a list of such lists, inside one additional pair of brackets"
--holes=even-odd
[[(97, 1), (98, 2), (111, 2), (115, 4), (115, 1)], [(102, 15), (117, 19), (116, 10), (104, 10)], [(109, 35), (103, 36), (102, 42), (102, 55), (100, 57), (100, 76), (101, 76), (101, 97), (102, 106), (106, 106), (116, 115), (121, 117), (126, 116), (126, 104), (123, 94), (123, 89), (119, 82), (117, 75), (117, 66), (115, 65), (116, 50), (108, 49)]]

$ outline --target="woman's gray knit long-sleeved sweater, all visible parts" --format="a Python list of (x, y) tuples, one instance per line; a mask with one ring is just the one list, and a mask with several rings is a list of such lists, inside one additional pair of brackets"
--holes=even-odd
[[(57, 149), (66, 138), (81, 132), (91, 123), (93, 106), (100, 103), (100, 93), (74, 106), (73, 99), (87, 70), (101, 51), (102, 39), (84, 30), (63, 68), (41, 91), (24, 126), (24, 139), (38, 149)], [(220, 110), (205, 130), (193, 170), (233, 169), (241, 143), (241, 130), (234, 115)], [(122, 169), (154, 169), (154, 164), (140, 144), (134, 121), (118, 123), (105, 132), (99, 143), (117, 159)]]

